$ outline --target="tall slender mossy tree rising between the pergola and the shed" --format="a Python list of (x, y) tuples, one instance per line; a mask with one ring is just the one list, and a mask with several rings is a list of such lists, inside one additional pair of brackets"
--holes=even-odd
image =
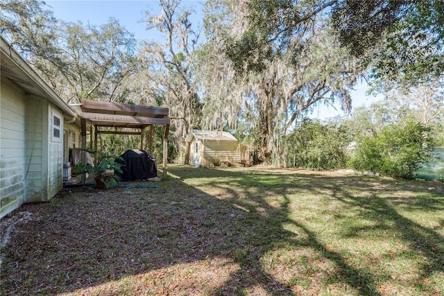
[(157, 16), (146, 11), (148, 30), (157, 29), (165, 42), (145, 42), (144, 58), (151, 92), (170, 108), (170, 118), (178, 140), (200, 126), (202, 102), (194, 83), (194, 45), (198, 34), (191, 28), (192, 10), (180, 0), (161, 0)]

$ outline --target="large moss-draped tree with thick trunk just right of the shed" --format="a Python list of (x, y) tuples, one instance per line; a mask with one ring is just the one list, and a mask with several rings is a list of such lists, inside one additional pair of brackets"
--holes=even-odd
[[(328, 22), (316, 16), (311, 18), (309, 30), (291, 37), (288, 50), (278, 53), (270, 44), (264, 44), (260, 49), (253, 46), (251, 49), (255, 53), (248, 53), (243, 46), (248, 42), (246, 34), (255, 24), (254, 20), (253, 24), (249, 23), (251, 18), (247, 13), (252, 2), (241, 1), (239, 6), (234, 6), (232, 1), (212, 1), (213, 9), (205, 17), (211, 25), (208, 40), (217, 44), (219, 50), (223, 49), (217, 55), (219, 59), (214, 60), (225, 58), (223, 67), (210, 69), (221, 70), (220, 74), (216, 71), (219, 85), (231, 85), (214, 87), (222, 90), (214, 96), (215, 100), (228, 98), (230, 102), (230, 106), (216, 108), (215, 112), (223, 110), (240, 118), (237, 124), (249, 128), (248, 143), (255, 147), (257, 160), (280, 166), (284, 164), (280, 137), (287, 134), (298, 116), (318, 104), (329, 104), (337, 99), (343, 103), (345, 112), (350, 110), (348, 88), (357, 80), (361, 68), (357, 60), (335, 46), (337, 42)], [(298, 54), (293, 50), (296, 47)], [(270, 50), (270, 55), (257, 52), (262, 49)], [(213, 85), (217, 85), (217, 81), (214, 82)], [(210, 104), (221, 106), (221, 103), (205, 101), (205, 105)], [(233, 112), (231, 106), (239, 109)], [(228, 114), (224, 117), (230, 118)], [(216, 114), (213, 118), (220, 116)]]

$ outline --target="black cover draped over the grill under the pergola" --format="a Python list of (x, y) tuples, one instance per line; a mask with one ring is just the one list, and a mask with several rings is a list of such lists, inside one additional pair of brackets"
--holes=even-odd
[(120, 177), (121, 181), (146, 180), (157, 177), (155, 159), (145, 150), (126, 150), (120, 157), (123, 158), (123, 161), (116, 159), (116, 162), (122, 165), (122, 173), (116, 172), (116, 175)]

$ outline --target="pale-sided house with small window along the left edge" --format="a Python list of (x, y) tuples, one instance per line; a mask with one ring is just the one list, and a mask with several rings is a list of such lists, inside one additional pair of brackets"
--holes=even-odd
[(0, 218), (63, 188), (80, 117), (1, 37)]

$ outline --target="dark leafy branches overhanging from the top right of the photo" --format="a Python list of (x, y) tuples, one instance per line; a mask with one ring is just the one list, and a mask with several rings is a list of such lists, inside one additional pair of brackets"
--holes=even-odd
[(373, 69), (377, 79), (411, 84), (444, 70), (444, 6), (441, 0), (248, 1), (248, 30), (227, 49), (238, 69), (262, 71), (264, 60), (300, 52), (294, 36), (317, 17), (331, 17), (345, 47)]

